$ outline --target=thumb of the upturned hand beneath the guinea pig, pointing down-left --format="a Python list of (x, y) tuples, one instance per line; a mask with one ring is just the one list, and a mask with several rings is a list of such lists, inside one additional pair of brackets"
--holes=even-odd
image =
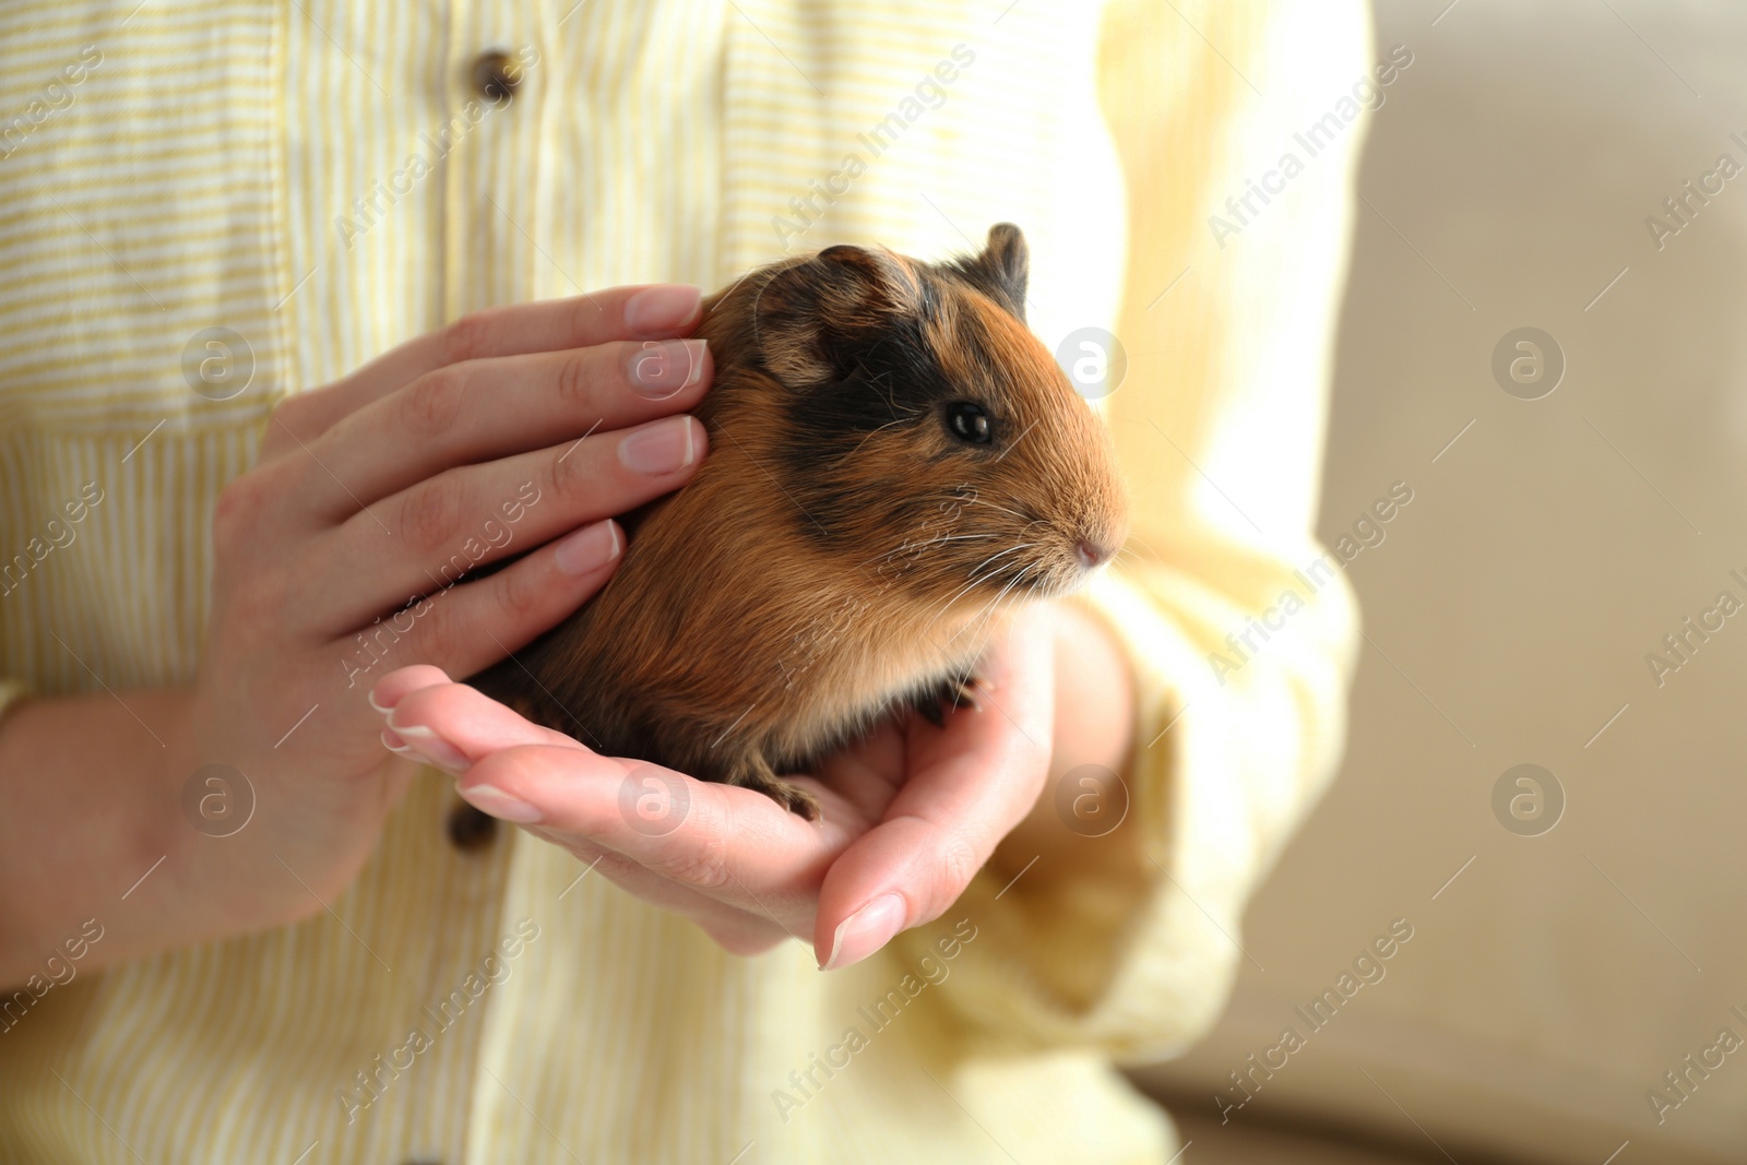
[(825, 877), (819, 966), (860, 962), (898, 931), (940, 917), (1036, 803), (1050, 765), (1053, 639), (1015, 636), (991, 660), (980, 709), (912, 730), (908, 779), (884, 819)]

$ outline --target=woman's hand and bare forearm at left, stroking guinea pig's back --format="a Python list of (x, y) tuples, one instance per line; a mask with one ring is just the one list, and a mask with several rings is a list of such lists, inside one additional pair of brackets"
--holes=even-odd
[[(611, 517), (704, 456), (676, 416), (709, 384), (702, 341), (676, 339), (699, 314), (690, 286), (491, 309), (285, 400), (218, 496), (192, 690), (30, 700), (0, 723), (0, 852), (17, 858), (0, 872), (19, 891), (0, 947), (52, 950), (159, 858), (107, 910), (103, 961), (332, 901), (416, 770), (384, 755), (370, 685), (412, 662), (472, 674), (601, 587)], [(213, 795), (185, 802), (211, 765)], [(185, 819), (250, 793), (236, 837)]]

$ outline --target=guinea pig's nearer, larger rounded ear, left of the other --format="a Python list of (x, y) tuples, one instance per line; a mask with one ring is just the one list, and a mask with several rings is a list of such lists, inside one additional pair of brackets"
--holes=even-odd
[(854, 367), (858, 339), (882, 335), (921, 307), (921, 281), (891, 252), (828, 246), (779, 269), (758, 292), (758, 353), (786, 384), (816, 384)]

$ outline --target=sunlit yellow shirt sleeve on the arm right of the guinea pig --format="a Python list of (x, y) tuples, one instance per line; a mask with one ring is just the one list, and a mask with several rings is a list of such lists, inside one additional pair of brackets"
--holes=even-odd
[(1130, 353), (1106, 403), (1134, 533), (1080, 601), (1132, 667), (1130, 819), (1108, 868), (966, 891), (978, 957), (950, 997), (987, 1039), (1157, 1058), (1205, 1032), (1244, 903), (1340, 758), (1357, 610), (1312, 526), (1378, 77), (1361, 0), (1106, 12)]

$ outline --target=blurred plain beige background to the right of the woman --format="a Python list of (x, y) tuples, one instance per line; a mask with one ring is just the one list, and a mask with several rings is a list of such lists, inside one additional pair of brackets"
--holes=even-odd
[(1375, 19), (1413, 65), (1363, 162), (1321, 536), (1413, 501), (1349, 566), (1343, 772), (1216, 1032), (1137, 1079), (1190, 1163), (1742, 1162), (1747, 5)]

